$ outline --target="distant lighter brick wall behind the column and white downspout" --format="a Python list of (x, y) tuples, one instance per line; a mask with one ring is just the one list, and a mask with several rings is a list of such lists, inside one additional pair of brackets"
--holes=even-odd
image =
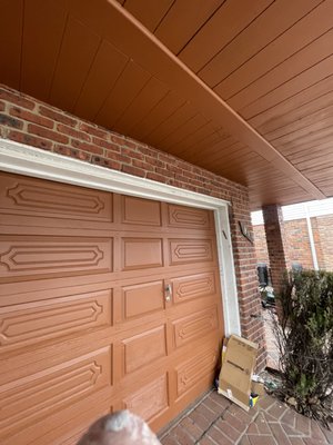
[[(333, 215), (311, 218), (319, 267), (333, 270)], [(289, 267), (301, 263), (306, 269), (313, 268), (306, 219), (284, 221)], [(270, 264), (263, 225), (254, 226), (255, 254), (258, 263)]]

